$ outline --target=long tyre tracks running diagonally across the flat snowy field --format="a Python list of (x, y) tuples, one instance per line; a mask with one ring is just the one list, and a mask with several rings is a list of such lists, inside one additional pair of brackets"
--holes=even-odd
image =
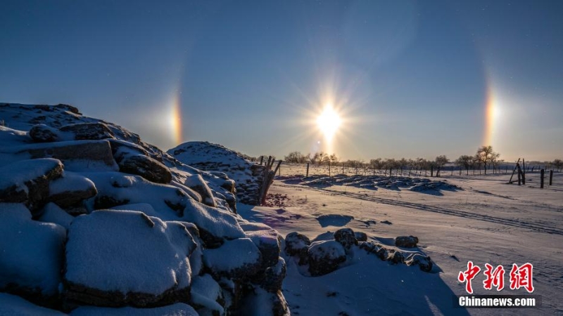
[(403, 206), (403, 207), (407, 207), (407, 208), (410, 208), (410, 209), (419, 209), (421, 211), (431, 211), (431, 212), (434, 212), (434, 213), (442, 213), (442, 214), (446, 214), (446, 215), (458, 216), (458, 217), (463, 217), (463, 218), (483, 220), (483, 221), (486, 221), (486, 222), (489, 222), (489, 223), (508, 225), (508, 226), (512, 226), (512, 227), (516, 227), (516, 228), (526, 228), (526, 229), (530, 229), (530, 230), (537, 230), (539, 232), (545, 232), (545, 233), (548, 233), (548, 234), (563, 235), (563, 230), (561, 230), (559, 228), (554, 228), (554, 227), (550, 227), (550, 226), (547, 226), (547, 225), (541, 225), (539, 223), (528, 223), (528, 222), (524, 222), (524, 221), (521, 221), (521, 220), (514, 220), (514, 219), (511, 219), (511, 218), (500, 218), (500, 217), (489, 216), (489, 215), (485, 215), (485, 214), (477, 214), (477, 213), (469, 213), (469, 212), (466, 212), (466, 211), (444, 209), (443, 207), (440, 207), (440, 206), (429, 206), (429, 205), (426, 205), (426, 204), (398, 201), (396, 199), (386, 199), (386, 198), (383, 198), (383, 197), (370, 197), (368, 195), (362, 195), (360, 193), (341, 192), (341, 191), (337, 191), (337, 190), (329, 190), (327, 188), (320, 189), (320, 188), (317, 188), (317, 187), (308, 187), (308, 186), (305, 186), (305, 185), (286, 185), (286, 184), (279, 184), (279, 183), (276, 183), (274, 185), (277, 185), (277, 186), (280, 186), (280, 187), (298, 187), (300, 189), (308, 189), (308, 190), (319, 191), (319, 192), (329, 192), (329, 193), (332, 193), (334, 195), (341, 195), (343, 197), (353, 197), (355, 199), (363, 199), (365, 201), (370, 201), (370, 202), (377, 202), (377, 203), (381, 203), (381, 204), (388, 204), (388, 205), (394, 205), (394, 206)]

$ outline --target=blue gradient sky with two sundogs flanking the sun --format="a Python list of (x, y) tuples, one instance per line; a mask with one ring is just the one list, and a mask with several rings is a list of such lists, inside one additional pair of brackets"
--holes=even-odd
[(563, 1), (0, 3), (0, 102), (72, 104), (163, 150), (552, 160), (562, 100)]

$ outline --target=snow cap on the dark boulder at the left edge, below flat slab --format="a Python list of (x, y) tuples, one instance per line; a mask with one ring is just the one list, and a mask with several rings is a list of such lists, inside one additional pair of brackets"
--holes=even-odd
[(18, 190), (25, 190), (27, 186), (25, 182), (34, 180), (44, 176), (49, 171), (56, 169), (58, 166), (63, 167), (60, 161), (52, 158), (20, 160), (0, 167), (0, 190), (6, 190), (8, 187), (15, 185)]

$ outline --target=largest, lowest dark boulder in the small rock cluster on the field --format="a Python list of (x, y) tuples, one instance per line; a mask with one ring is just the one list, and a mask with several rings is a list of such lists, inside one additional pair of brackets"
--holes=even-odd
[(326, 275), (346, 261), (346, 250), (334, 240), (313, 242), (308, 249), (308, 258), (311, 275)]

